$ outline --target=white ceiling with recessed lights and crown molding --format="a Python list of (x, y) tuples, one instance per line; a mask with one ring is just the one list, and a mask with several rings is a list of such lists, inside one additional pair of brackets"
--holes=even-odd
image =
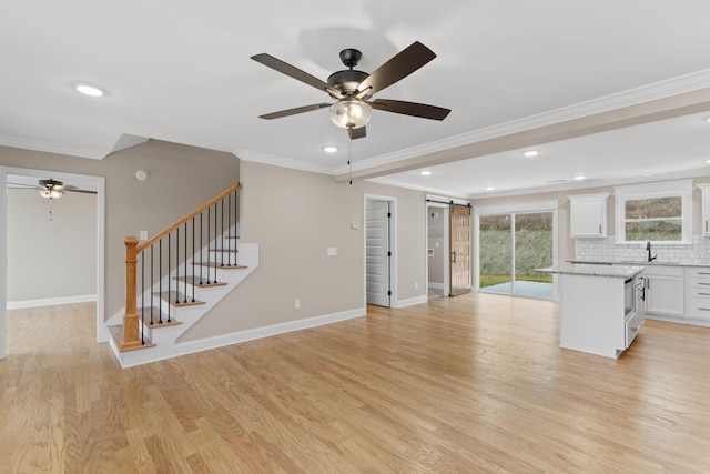
[[(704, 105), (527, 140), (540, 151), (534, 160), (515, 140), (466, 154), (486, 138), (669, 95), (694, 91), (710, 103), (708, 18), (706, 0), (3, 2), (0, 144), (102, 159), (151, 138), (337, 175), (347, 170), (347, 135), (327, 109), (257, 118), (329, 98), (250, 57), (267, 52), (325, 80), (343, 69), (344, 48), (362, 50), (357, 69), (372, 72), (418, 40), (438, 57), (375, 98), (453, 111), (437, 122), (375, 110), (367, 137), (353, 142), (364, 178), (473, 198), (710, 174)], [(77, 82), (106, 94), (83, 97)], [(326, 144), (341, 150), (326, 155)], [(454, 159), (477, 158), (430, 167), (426, 179), (415, 171), (457, 147)], [(587, 181), (572, 181), (578, 173)]]

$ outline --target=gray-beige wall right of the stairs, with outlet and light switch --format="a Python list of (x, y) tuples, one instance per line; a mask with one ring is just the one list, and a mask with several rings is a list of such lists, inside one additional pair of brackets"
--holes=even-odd
[(398, 300), (426, 294), (423, 193), (247, 161), (241, 177), (241, 240), (258, 243), (260, 266), (181, 342), (363, 309), (365, 193), (397, 200)]

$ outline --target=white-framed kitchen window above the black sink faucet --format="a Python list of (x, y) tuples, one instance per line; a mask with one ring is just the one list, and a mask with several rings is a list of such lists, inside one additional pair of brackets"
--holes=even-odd
[(692, 181), (615, 188), (617, 243), (690, 243)]

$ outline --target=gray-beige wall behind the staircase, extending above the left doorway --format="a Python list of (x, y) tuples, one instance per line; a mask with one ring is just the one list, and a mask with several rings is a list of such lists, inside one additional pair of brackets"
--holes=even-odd
[[(0, 147), (0, 165), (105, 178), (106, 317), (125, 306), (125, 238), (154, 235), (240, 178), (232, 153), (155, 140), (103, 160)], [(148, 182), (135, 179), (139, 169)]]

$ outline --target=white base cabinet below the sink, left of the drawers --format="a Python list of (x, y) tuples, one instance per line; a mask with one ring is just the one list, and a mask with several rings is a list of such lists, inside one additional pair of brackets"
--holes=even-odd
[(683, 316), (683, 269), (679, 266), (648, 265), (646, 312), (650, 315)]

